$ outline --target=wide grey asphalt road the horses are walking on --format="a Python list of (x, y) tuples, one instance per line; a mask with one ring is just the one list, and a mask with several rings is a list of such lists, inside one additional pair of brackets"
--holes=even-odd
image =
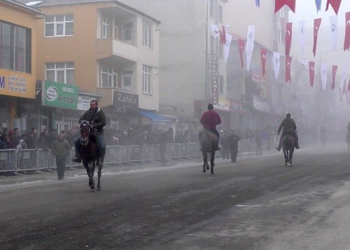
[(2, 177), (0, 249), (350, 249), (349, 159), (343, 144), (297, 150), (293, 167), (282, 153), (217, 159), (214, 175), (106, 167), (94, 193), (83, 171)]

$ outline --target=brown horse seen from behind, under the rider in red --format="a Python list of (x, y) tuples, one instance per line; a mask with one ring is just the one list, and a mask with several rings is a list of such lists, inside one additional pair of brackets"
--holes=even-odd
[(210, 153), (210, 171), (211, 174), (214, 174), (214, 158), (215, 158), (215, 149), (218, 144), (218, 137), (213, 132), (208, 130), (202, 130), (198, 134), (200, 138), (200, 145), (203, 155), (203, 172), (206, 172), (206, 169), (209, 169), (208, 164), (208, 153)]

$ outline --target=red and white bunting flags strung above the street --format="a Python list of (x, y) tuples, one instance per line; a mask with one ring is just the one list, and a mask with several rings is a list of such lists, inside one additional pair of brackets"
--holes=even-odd
[[(327, 0), (325, 11), (328, 11), (329, 6), (333, 8), (336, 15), (333, 15), (330, 17), (330, 32), (332, 32), (332, 50), (337, 50), (336, 44), (337, 44), (337, 15), (339, 12), (339, 7), (342, 0)], [(260, 0), (255, 0), (255, 4), (257, 7), (260, 7)], [(321, 0), (315, 0), (316, 4), (316, 11), (321, 11)], [(293, 13), (295, 13), (295, 0), (275, 0), (275, 10), (274, 13), (278, 12), (283, 6), (288, 6)], [(312, 52), (314, 57), (316, 57), (316, 48), (317, 48), (317, 39), (318, 39), (318, 31), (321, 27), (321, 18), (314, 19), (314, 44), (312, 48)], [(293, 57), (290, 57), (290, 47), (292, 44), (292, 27), (293, 22), (288, 22), (286, 25), (286, 34), (285, 34), (285, 55), (286, 55), (286, 83), (291, 83), (291, 76), (290, 76), (290, 66), (293, 60)], [(302, 50), (302, 53), (304, 53), (304, 30), (305, 30), (306, 21), (302, 20), (299, 23), (299, 32), (300, 32), (300, 48)], [(232, 42), (233, 36), (228, 33), (228, 27), (232, 27), (232, 25), (225, 25), (222, 26), (221, 29), (219, 29), (218, 25), (211, 25), (211, 34), (216, 38), (220, 40), (220, 43), (223, 45), (224, 48), (224, 58), (225, 62), (228, 60), (228, 54), (230, 51), (230, 44)], [(254, 49), (254, 40), (255, 40), (255, 26), (254, 25), (248, 25), (246, 40), (244, 39), (237, 39), (237, 43), (239, 46), (239, 57), (241, 61), (241, 68), (244, 67), (244, 60), (243, 60), (243, 53), (244, 53), (244, 47), (246, 48), (246, 70), (249, 71), (251, 68), (251, 58), (253, 56), (253, 49)], [(350, 50), (350, 12), (345, 13), (345, 36), (344, 36), (344, 51)], [(267, 57), (267, 49), (266, 48), (260, 48), (260, 57), (261, 57), (261, 69), (262, 69), (262, 76), (265, 76), (266, 71), (266, 57)], [(281, 53), (278, 53), (276, 51), (272, 52), (272, 61), (274, 65), (274, 76), (276, 79), (279, 78), (279, 69), (280, 69), (280, 57)], [(309, 84), (310, 87), (313, 88), (314, 86), (314, 71), (315, 71), (315, 62), (309, 62)], [(307, 62), (305, 62), (304, 65), (307, 65)], [(335, 90), (335, 76), (337, 73), (338, 66), (332, 65), (332, 84), (330, 86), (331, 90)], [(320, 73), (321, 73), (321, 87), (323, 90), (326, 89), (327, 86), (327, 70), (328, 67), (326, 64), (321, 63), (320, 65)], [(342, 95), (346, 94), (346, 92), (350, 92), (350, 80), (349, 83), (346, 86), (346, 71), (347, 67), (342, 67), (342, 81), (340, 82), (339, 87), (339, 93), (340, 93), (340, 99), (342, 99)], [(347, 98), (347, 95), (346, 95)]]

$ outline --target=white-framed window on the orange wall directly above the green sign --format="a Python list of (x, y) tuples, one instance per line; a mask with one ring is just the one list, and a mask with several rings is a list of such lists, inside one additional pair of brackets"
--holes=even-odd
[(74, 84), (74, 62), (48, 62), (45, 64), (46, 80)]

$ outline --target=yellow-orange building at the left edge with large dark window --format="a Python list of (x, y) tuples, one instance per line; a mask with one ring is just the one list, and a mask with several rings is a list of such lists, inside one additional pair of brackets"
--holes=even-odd
[(36, 106), (36, 22), (43, 13), (0, 1), (0, 129), (26, 129), (25, 103)]

